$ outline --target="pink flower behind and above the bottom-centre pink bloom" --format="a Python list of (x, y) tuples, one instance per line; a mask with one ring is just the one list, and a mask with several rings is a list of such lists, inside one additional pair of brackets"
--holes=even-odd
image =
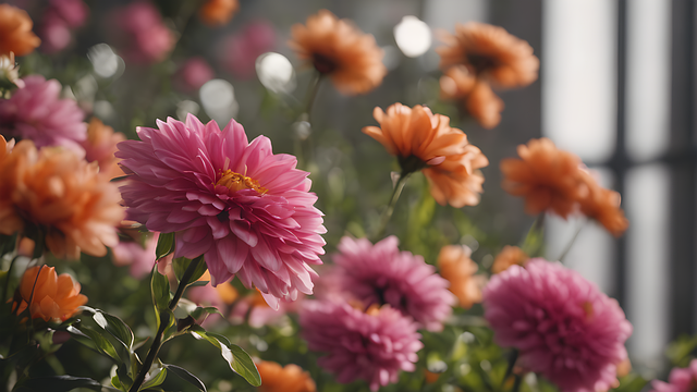
[(395, 236), (375, 245), (366, 238), (341, 238), (340, 253), (332, 257), (338, 289), (365, 307), (389, 304), (414, 318), (420, 328), (442, 330), (455, 303), (448, 291), (450, 283), (421, 256), (400, 252), (398, 245)]

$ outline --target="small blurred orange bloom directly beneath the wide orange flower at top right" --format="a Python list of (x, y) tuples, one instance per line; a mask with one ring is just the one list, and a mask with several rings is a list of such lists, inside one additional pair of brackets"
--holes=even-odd
[(482, 127), (491, 130), (501, 122), (503, 101), (489, 83), (478, 81), (464, 66), (450, 68), (440, 78), (442, 99), (462, 101), (463, 108)]

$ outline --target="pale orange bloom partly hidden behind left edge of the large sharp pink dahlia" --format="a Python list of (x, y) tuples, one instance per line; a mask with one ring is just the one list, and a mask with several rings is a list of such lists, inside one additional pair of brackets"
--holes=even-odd
[(125, 175), (119, 167), (117, 144), (126, 138), (120, 132), (113, 132), (111, 126), (105, 125), (101, 120), (93, 118), (87, 126), (87, 139), (82, 143), (85, 149), (85, 159), (88, 162), (98, 162), (99, 172), (109, 179)]

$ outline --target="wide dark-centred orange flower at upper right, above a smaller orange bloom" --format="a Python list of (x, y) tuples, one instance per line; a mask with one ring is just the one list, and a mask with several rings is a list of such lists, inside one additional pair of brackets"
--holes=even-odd
[(539, 60), (524, 40), (510, 35), (503, 27), (470, 22), (455, 26), (455, 35), (443, 34), (444, 47), (440, 68), (463, 64), (477, 78), (500, 87), (527, 86), (537, 79)]

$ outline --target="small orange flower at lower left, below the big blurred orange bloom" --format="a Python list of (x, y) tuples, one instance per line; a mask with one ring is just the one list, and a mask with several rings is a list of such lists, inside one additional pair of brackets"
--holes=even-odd
[(17, 314), (26, 309), (30, 301), (32, 318), (44, 321), (65, 321), (77, 311), (77, 307), (87, 303), (87, 297), (80, 294), (80, 283), (70, 274), (59, 275), (53, 267), (47, 266), (32, 267), (24, 272), (20, 294), (22, 303)]

